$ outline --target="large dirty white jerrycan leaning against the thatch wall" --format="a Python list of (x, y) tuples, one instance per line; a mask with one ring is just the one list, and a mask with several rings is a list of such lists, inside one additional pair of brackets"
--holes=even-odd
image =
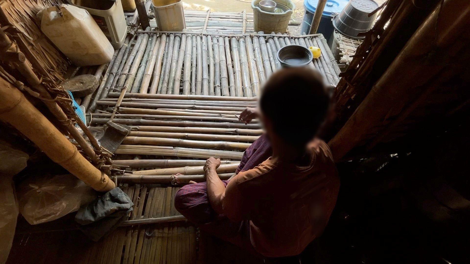
[(114, 48), (85, 9), (61, 4), (46, 8), (41, 30), (77, 66), (111, 61)]

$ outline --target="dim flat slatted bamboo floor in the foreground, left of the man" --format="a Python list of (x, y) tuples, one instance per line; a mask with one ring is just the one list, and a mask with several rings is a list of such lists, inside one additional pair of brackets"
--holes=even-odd
[[(179, 215), (178, 187), (121, 188), (134, 202), (129, 219)], [(118, 227), (98, 242), (78, 230), (17, 234), (7, 263), (194, 264), (196, 228), (187, 222)]]

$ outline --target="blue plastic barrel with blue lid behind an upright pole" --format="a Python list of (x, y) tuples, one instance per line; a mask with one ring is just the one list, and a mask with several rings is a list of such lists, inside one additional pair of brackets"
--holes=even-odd
[[(317, 33), (321, 33), (325, 39), (329, 39), (335, 29), (331, 19), (333, 16), (340, 13), (348, 2), (349, 0), (328, 0), (323, 13), (321, 14), (320, 25), (318, 26)], [(305, 32), (308, 34), (308, 31), (310, 31), (310, 25), (317, 5), (318, 0), (304, 0), (305, 14), (300, 27), (300, 33)]]

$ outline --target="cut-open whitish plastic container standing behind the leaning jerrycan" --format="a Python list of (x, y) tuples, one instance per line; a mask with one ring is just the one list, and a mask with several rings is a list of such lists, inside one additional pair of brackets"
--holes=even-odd
[(127, 33), (121, 0), (68, 0), (88, 11), (115, 49), (124, 44)]

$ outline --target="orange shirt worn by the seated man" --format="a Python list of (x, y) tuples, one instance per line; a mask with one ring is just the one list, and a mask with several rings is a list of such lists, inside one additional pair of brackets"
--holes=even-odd
[(300, 254), (321, 234), (335, 206), (339, 178), (322, 140), (309, 143), (310, 164), (273, 163), (238, 173), (222, 195), (224, 214), (249, 220), (252, 246), (263, 256)]

